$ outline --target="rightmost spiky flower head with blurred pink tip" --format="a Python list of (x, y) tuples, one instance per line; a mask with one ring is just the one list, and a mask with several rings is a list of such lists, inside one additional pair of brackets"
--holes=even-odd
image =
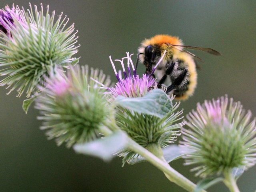
[(198, 104), (188, 114), (182, 128), (182, 146), (192, 152), (185, 156), (186, 165), (199, 164), (192, 169), (197, 176), (221, 174), (256, 163), (256, 127), (251, 112), (243, 110), (240, 102), (227, 96)]

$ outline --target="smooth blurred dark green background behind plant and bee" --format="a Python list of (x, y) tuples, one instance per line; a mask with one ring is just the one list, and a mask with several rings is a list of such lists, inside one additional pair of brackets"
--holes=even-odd
[[(194, 52), (204, 60), (198, 71), (194, 96), (181, 103), (184, 114), (197, 102), (224, 94), (240, 100), (256, 116), (256, 1), (70, 1), (16, 0), (28, 8), (28, 2), (42, 2), (57, 14), (64, 12), (78, 30), (80, 64), (101, 68), (115, 80), (108, 56), (121, 58), (137, 52), (140, 42), (155, 34), (179, 36), (186, 45), (210, 47), (220, 57)], [(1, 0), (0, 7), (11, 5)], [(135, 61), (134, 56), (134, 61)], [(144, 71), (139, 66), (139, 73)], [(57, 147), (39, 130), (38, 111), (22, 110), (16, 92), (9, 96), (0, 88), (0, 191), (1, 192), (184, 192), (168, 182), (149, 163), (125, 165), (115, 158), (110, 163), (76, 154), (65, 146)], [(198, 182), (183, 160), (171, 165)], [(238, 180), (243, 192), (256, 190), (256, 166)], [(223, 184), (209, 192), (226, 192)]]

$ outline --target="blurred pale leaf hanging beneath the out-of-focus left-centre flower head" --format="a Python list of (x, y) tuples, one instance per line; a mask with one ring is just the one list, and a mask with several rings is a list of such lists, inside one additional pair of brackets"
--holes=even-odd
[(128, 136), (122, 131), (116, 131), (108, 137), (84, 144), (76, 144), (73, 148), (78, 153), (95, 156), (108, 162), (114, 158), (114, 153), (125, 148), (127, 144)]

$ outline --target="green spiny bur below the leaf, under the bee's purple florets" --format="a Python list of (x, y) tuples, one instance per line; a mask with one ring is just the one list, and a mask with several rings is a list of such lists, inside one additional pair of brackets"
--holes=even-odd
[[(174, 97), (171, 98), (173, 99)], [(180, 136), (180, 128), (184, 125), (181, 116), (183, 110), (176, 111), (179, 104), (176, 103), (163, 118), (118, 108), (116, 124), (145, 148), (152, 144), (158, 148), (165, 148), (176, 141), (177, 136)], [(120, 156), (124, 157), (124, 162), (129, 163), (136, 161), (139, 155), (126, 149)]]

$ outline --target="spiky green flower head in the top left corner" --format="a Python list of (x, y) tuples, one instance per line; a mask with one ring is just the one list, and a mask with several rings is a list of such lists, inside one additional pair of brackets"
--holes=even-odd
[(49, 14), (47, 6), (44, 14), (43, 6), (38, 12), (30, 5), (28, 14), (24, 10), (6, 8), (1, 10), (0, 26), (0, 71), (6, 76), (0, 86), (7, 86), (10, 92), (18, 91), (18, 96), (26, 92), (30, 97), (38, 91), (37, 85), (49, 76), (55, 66), (67, 66), (78, 62), (72, 58), (77, 52), (76, 32), (74, 25), (67, 26), (66, 16), (62, 14), (54, 21), (55, 12)]

